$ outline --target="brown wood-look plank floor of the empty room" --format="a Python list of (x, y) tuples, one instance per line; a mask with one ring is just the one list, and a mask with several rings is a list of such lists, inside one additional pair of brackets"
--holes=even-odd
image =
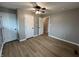
[(79, 47), (48, 37), (47, 35), (41, 35), (23, 42), (13, 41), (6, 43), (3, 48), (3, 56), (76, 57), (79, 56)]

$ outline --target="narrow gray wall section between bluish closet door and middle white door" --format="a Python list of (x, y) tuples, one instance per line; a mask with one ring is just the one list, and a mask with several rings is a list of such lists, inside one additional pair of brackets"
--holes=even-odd
[(17, 10), (17, 19), (18, 19), (18, 34), (19, 39), (25, 38), (25, 21), (24, 21), (24, 13), (22, 10)]

